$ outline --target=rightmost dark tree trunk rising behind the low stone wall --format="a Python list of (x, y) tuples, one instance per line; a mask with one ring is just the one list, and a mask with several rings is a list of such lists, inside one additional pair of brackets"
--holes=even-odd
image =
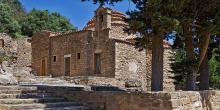
[(206, 54), (203, 62), (200, 66), (200, 83), (199, 90), (208, 90), (209, 89), (209, 65), (208, 65), (208, 55)]

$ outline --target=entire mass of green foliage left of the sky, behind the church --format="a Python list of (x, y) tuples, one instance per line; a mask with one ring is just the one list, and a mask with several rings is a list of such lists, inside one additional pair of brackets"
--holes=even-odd
[(26, 13), (19, 0), (0, 0), (0, 32), (16, 38), (32, 36), (41, 30), (67, 32), (75, 30), (75, 27), (57, 12), (33, 9)]

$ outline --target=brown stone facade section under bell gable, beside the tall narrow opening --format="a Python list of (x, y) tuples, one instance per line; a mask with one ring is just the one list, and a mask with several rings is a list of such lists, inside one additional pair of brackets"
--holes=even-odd
[[(94, 51), (101, 55), (101, 74), (94, 76), (115, 76), (115, 43), (110, 39), (110, 29), (94, 32)], [(93, 64), (94, 65), (94, 62)]]

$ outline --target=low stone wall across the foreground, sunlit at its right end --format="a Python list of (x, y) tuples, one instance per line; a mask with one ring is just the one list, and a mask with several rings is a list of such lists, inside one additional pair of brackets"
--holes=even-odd
[(126, 92), (68, 91), (55, 94), (104, 110), (220, 110), (220, 91)]

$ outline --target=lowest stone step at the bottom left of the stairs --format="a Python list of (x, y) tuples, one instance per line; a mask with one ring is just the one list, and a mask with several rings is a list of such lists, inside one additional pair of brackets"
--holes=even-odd
[[(0, 105), (1, 106), (1, 105)], [(36, 109), (45, 109), (45, 108), (61, 108), (69, 106), (84, 106), (81, 103), (76, 102), (56, 102), (56, 103), (32, 103), (32, 104), (7, 104), (2, 105), (9, 108), (10, 110), (36, 110)]]

